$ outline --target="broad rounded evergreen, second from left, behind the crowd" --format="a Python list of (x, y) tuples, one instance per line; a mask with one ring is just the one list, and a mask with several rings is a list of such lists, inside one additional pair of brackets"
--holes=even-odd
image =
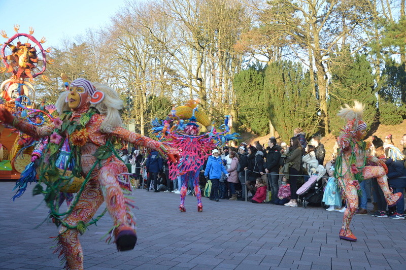
[(293, 136), (293, 129), (302, 127), (312, 135), (318, 130), (317, 101), (312, 95), (309, 73), (292, 61), (269, 64), (264, 79), (268, 119), (282, 140)]

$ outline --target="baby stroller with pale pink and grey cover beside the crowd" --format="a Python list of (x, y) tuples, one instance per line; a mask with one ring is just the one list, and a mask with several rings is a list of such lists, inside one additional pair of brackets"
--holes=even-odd
[(326, 174), (326, 169), (323, 165), (316, 168), (316, 174), (304, 183), (297, 191), (297, 203), (302, 204), (306, 208), (308, 203), (318, 204), (323, 199), (323, 176)]

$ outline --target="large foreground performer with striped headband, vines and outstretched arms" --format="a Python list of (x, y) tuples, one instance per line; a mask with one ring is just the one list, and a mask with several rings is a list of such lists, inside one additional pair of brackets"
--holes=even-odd
[[(66, 87), (69, 84), (66, 83)], [(61, 149), (64, 138), (69, 139), (73, 153), (70, 158), (76, 159), (72, 174), (83, 176), (85, 180), (64, 218), (61, 219), (62, 214), (58, 215), (53, 209), (51, 215), (57, 219), (55, 224), (61, 225), (57, 250), (66, 259), (65, 267), (83, 269), (83, 252), (78, 235), (86, 230), (88, 224), (92, 224), (90, 220), (103, 201), (106, 201), (107, 210), (113, 218), (114, 226), (110, 233), (117, 249), (133, 249), (137, 242), (136, 221), (130, 210), (132, 201), (125, 196), (130, 190), (128, 170), (118, 158), (110, 140), (117, 138), (154, 149), (173, 161), (178, 155), (177, 150), (163, 143), (122, 128), (118, 111), (122, 107), (122, 100), (107, 85), (76, 79), (69, 91), (60, 94), (56, 107), (61, 117), (49, 125), (29, 124), (5, 109), (0, 109), (0, 121), (36, 140), (49, 136), (49, 143), (41, 157), (39, 177), (40, 182), (47, 183), (47, 189), (42, 190), (40, 185), (33, 193), (45, 193), (45, 201), (50, 208), (55, 204), (55, 194), (59, 192), (52, 190), (49, 183), (56, 181), (56, 185), (61, 186), (62, 183), (58, 181), (65, 179), (55, 165), (58, 149)]]

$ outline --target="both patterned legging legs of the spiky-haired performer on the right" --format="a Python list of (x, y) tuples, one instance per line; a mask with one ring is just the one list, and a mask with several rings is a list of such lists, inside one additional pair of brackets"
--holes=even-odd
[[(343, 171), (347, 171), (347, 166), (343, 162)], [(397, 196), (395, 196), (389, 189), (388, 181), (386, 177), (385, 169), (381, 166), (365, 166), (362, 169), (362, 176), (364, 179), (377, 178), (378, 184), (381, 187), (385, 200), (388, 205), (392, 205), (396, 202)], [(347, 199), (347, 210), (344, 212), (343, 225), (342, 229), (348, 230), (350, 228), (351, 219), (358, 209), (358, 193), (357, 187), (354, 185), (354, 180), (346, 174), (343, 177), (343, 183), (340, 182), (340, 185), (344, 189), (344, 194)], [(358, 184), (356, 182), (356, 184)]]

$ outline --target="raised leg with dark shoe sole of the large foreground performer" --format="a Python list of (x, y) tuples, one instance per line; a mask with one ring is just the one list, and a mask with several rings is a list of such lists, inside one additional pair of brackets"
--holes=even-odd
[(130, 210), (130, 207), (133, 207), (132, 201), (124, 196), (124, 190), (130, 185), (128, 176), (121, 175), (124, 172), (127, 172), (126, 166), (122, 162), (114, 161), (104, 165), (98, 173), (106, 207), (113, 218), (114, 242), (119, 251), (133, 249), (137, 242), (136, 221)]

